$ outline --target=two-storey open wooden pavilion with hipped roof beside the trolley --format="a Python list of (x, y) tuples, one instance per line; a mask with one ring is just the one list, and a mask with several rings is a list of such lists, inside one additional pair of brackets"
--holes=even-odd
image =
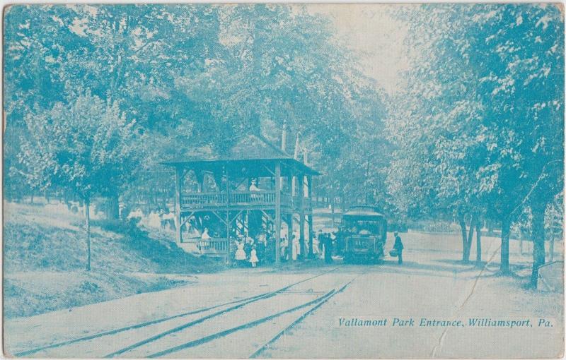
[[(175, 239), (179, 244), (193, 242), (202, 253), (229, 260), (234, 237), (270, 232), (278, 265), (282, 224), (289, 229), (292, 253), (290, 234), (295, 223), (301, 256), (307, 251), (312, 256), (312, 176), (319, 173), (269, 140), (248, 134), (222, 154), (203, 146), (163, 164), (175, 168)], [(211, 238), (183, 239), (187, 228), (195, 227), (198, 232), (207, 227)]]

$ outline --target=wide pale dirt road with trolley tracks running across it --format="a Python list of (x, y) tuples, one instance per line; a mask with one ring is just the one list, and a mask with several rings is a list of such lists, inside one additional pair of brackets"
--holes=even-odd
[[(231, 270), (200, 275), (187, 287), (9, 320), (6, 352), (183, 358), (560, 355), (561, 347), (548, 344), (560, 344), (563, 337), (563, 294), (533, 292), (521, 288), (519, 276), (497, 276), (497, 239), (484, 239), (483, 256), (492, 261), (475, 266), (458, 262), (456, 236), (404, 237), (403, 265), (390, 258), (379, 265), (337, 261), (283, 272)], [(528, 270), (515, 248), (512, 256), (519, 275)], [(475, 318), (524, 324), (529, 319), (532, 326), (470, 326)], [(540, 319), (550, 325), (539, 326)]]

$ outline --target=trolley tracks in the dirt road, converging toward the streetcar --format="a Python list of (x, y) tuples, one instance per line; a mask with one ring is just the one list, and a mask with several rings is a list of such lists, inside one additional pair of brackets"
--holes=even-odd
[[(225, 348), (225, 356), (257, 357), (362, 275), (343, 279), (331, 274), (335, 270), (337, 268), (246, 299), (48, 344), (15, 356), (204, 357), (202, 354)], [(248, 336), (253, 341), (247, 341)], [(241, 354), (232, 352), (234, 341), (242, 344), (238, 347)], [(229, 344), (223, 347), (223, 342)]]

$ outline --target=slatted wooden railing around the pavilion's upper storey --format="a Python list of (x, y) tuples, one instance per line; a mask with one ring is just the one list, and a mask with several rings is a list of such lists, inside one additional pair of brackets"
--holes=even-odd
[[(181, 208), (206, 208), (223, 205), (273, 205), (275, 191), (231, 191), (226, 193), (186, 193), (181, 196)], [(304, 199), (308, 208), (310, 200)], [(281, 205), (299, 208), (299, 197), (281, 193)]]

